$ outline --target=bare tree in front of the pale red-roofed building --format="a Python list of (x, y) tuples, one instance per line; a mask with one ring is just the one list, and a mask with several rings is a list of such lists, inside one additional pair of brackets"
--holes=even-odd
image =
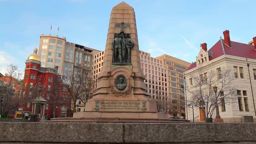
[[(235, 102), (236, 88), (232, 85), (234, 80), (233, 72), (225, 67), (219, 72), (213, 70), (202, 72), (198, 70), (197, 74), (187, 79), (186, 90), (190, 96), (187, 98), (187, 105), (194, 105), (203, 110), (204, 118), (212, 118), (216, 104), (220, 105), (222, 101), (225, 104)], [(217, 86), (217, 97), (213, 87)]]

